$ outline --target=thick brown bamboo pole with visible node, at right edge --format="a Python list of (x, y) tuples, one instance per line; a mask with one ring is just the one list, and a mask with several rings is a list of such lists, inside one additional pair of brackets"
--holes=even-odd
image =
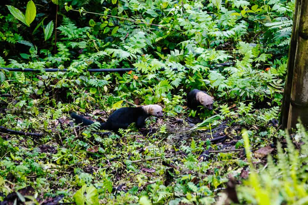
[(301, 8), (287, 129), (295, 128), (298, 119), (308, 127), (308, 1), (299, 2)]

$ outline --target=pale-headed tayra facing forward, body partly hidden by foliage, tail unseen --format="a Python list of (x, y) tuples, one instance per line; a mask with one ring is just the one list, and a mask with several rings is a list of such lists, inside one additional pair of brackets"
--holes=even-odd
[(209, 96), (205, 91), (193, 89), (187, 94), (187, 107), (197, 110), (198, 106), (213, 109), (213, 97)]

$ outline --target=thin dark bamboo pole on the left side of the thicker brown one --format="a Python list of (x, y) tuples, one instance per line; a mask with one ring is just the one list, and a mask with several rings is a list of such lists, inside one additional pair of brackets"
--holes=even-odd
[(298, 23), (299, 18), (301, 16), (301, 6), (303, 0), (297, 0), (295, 2), (295, 9), (293, 15), (293, 29), (292, 36), (290, 41), (290, 49), (289, 49), (289, 60), (288, 60), (288, 71), (286, 74), (286, 83), (283, 93), (282, 100), (282, 108), (280, 113), (280, 123), (282, 129), (287, 128), (288, 124), (288, 115), (290, 110), (290, 97), (291, 97), (291, 87), (292, 87), (292, 79), (293, 79), (293, 71), (294, 71), (294, 61), (295, 61), (295, 53), (297, 49), (297, 40), (298, 40)]

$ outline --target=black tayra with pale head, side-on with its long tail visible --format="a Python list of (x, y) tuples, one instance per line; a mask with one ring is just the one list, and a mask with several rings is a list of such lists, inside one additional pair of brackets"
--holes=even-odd
[[(137, 128), (142, 128), (148, 116), (162, 117), (163, 109), (157, 104), (144, 105), (136, 108), (120, 108), (113, 112), (106, 122), (100, 124), (100, 129), (117, 132), (120, 128), (128, 128), (133, 122), (136, 123)], [(71, 117), (78, 124), (90, 125), (94, 123), (92, 120), (88, 120), (76, 112), (72, 112)]]

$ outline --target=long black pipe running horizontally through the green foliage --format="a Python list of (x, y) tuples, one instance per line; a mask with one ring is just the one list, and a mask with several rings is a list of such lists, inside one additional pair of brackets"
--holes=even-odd
[[(229, 65), (234, 65), (235, 62), (227, 62), (227, 63), (220, 63), (216, 64), (215, 66), (229, 66)], [(12, 72), (37, 72), (40, 73), (40, 69), (31, 69), (31, 68), (0, 68), (0, 70), (7, 70), (7, 71), (12, 71)], [(188, 70), (189, 68), (185, 67), (185, 70)], [(45, 72), (67, 72), (68, 69), (58, 69), (58, 68), (44, 68)], [(136, 70), (136, 68), (110, 68), (110, 69), (83, 69), (84, 72), (90, 72), (90, 73), (97, 73), (97, 72), (126, 72), (126, 71), (131, 71), (131, 70)], [(165, 68), (161, 68), (160, 71), (164, 71)], [(177, 70), (177, 68), (173, 68), (172, 70)]]

